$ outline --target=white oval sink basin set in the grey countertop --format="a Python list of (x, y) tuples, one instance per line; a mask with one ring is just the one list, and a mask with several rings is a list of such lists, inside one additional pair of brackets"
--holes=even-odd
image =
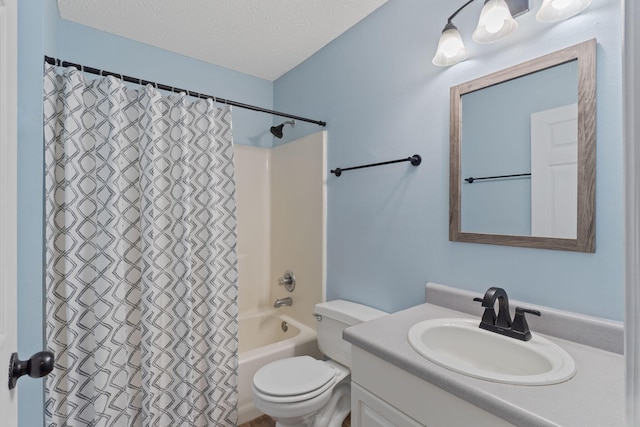
[(571, 356), (533, 334), (520, 341), (480, 329), (479, 320), (431, 319), (409, 330), (409, 343), (428, 360), (483, 380), (521, 385), (567, 381), (576, 373)]

